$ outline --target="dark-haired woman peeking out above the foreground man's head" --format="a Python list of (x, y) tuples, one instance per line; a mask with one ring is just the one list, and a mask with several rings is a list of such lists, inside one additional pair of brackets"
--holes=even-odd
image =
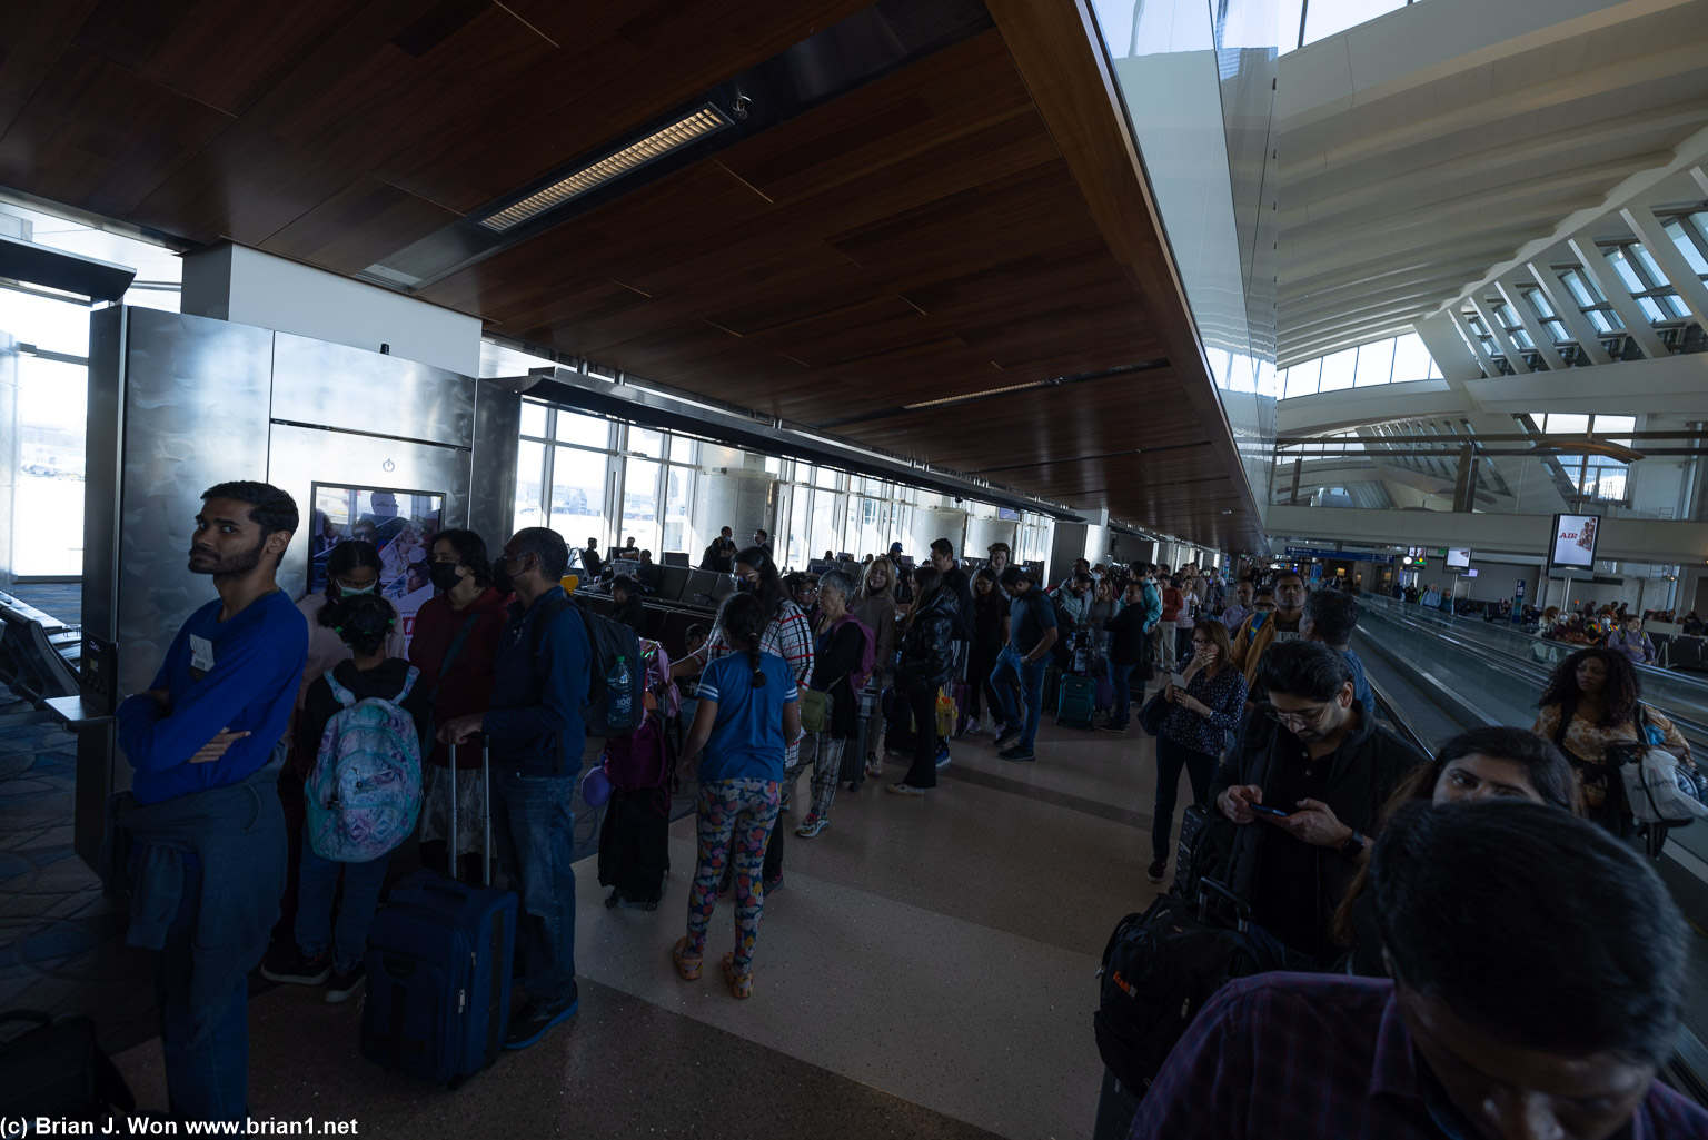
[[(1382, 808), (1382, 822), (1387, 824), (1407, 803), (1454, 807), (1476, 800), (1529, 800), (1582, 815), (1576, 778), (1559, 749), (1534, 732), (1489, 725), (1462, 732), (1442, 745), (1433, 764), (1419, 766), (1394, 791)], [(1385, 978), (1382, 935), (1373, 904), (1365, 894), (1368, 885), (1366, 865), (1334, 913), (1334, 937), (1349, 947), (1344, 962), (1348, 974)]]

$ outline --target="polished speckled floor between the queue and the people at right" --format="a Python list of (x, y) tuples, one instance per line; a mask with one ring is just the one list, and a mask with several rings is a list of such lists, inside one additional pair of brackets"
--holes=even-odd
[[(582, 860), (581, 1015), (454, 1092), (362, 1061), (357, 1002), (260, 993), (251, 1111), (355, 1118), (364, 1137), (1088, 1137), (1098, 955), (1158, 890), (1151, 742), (1047, 723), (1038, 757), (1003, 762), (972, 738), (922, 800), (840, 791), (827, 831), (789, 837), (748, 1002), (716, 969), (683, 983), (670, 964), (692, 819), (671, 827), (654, 913), (605, 909)], [(728, 902), (709, 962), (726, 942)], [(120, 1067), (164, 1108), (157, 1041)]]

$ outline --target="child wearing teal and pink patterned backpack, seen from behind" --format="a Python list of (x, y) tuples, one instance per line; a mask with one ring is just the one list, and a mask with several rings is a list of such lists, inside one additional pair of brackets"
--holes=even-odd
[[(343, 1002), (362, 981), (386, 865), (420, 814), (429, 694), (417, 685), (420, 670), (386, 656), (396, 620), (391, 602), (377, 595), (335, 602), (331, 626), (352, 658), (309, 685), (297, 716), (297, 754), (314, 757), (304, 788), (297, 945), (290, 961), (263, 964), (261, 974), (302, 986), (326, 983), (328, 1002)], [(343, 904), (335, 930), (340, 870)]]

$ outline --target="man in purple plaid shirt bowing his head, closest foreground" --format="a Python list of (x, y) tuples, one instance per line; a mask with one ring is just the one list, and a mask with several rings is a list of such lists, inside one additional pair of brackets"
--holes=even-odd
[(1708, 1137), (1708, 1111), (1655, 1078), (1689, 933), (1636, 851), (1542, 803), (1414, 803), (1370, 889), (1390, 978), (1225, 986), (1134, 1140)]

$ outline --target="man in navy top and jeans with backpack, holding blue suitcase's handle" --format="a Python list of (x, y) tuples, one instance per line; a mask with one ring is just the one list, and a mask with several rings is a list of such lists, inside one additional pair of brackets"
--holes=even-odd
[(521, 896), (518, 981), (528, 1002), (511, 1014), (507, 1049), (524, 1049), (579, 1008), (576, 988), (576, 776), (588, 743), (593, 646), (559, 579), (569, 547), (528, 526), (492, 562), (492, 585), (516, 591), (499, 634), (492, 706), (439, 728), (446, 743), (477, 732), (492, 740), (492, 836), (499, 865)]

